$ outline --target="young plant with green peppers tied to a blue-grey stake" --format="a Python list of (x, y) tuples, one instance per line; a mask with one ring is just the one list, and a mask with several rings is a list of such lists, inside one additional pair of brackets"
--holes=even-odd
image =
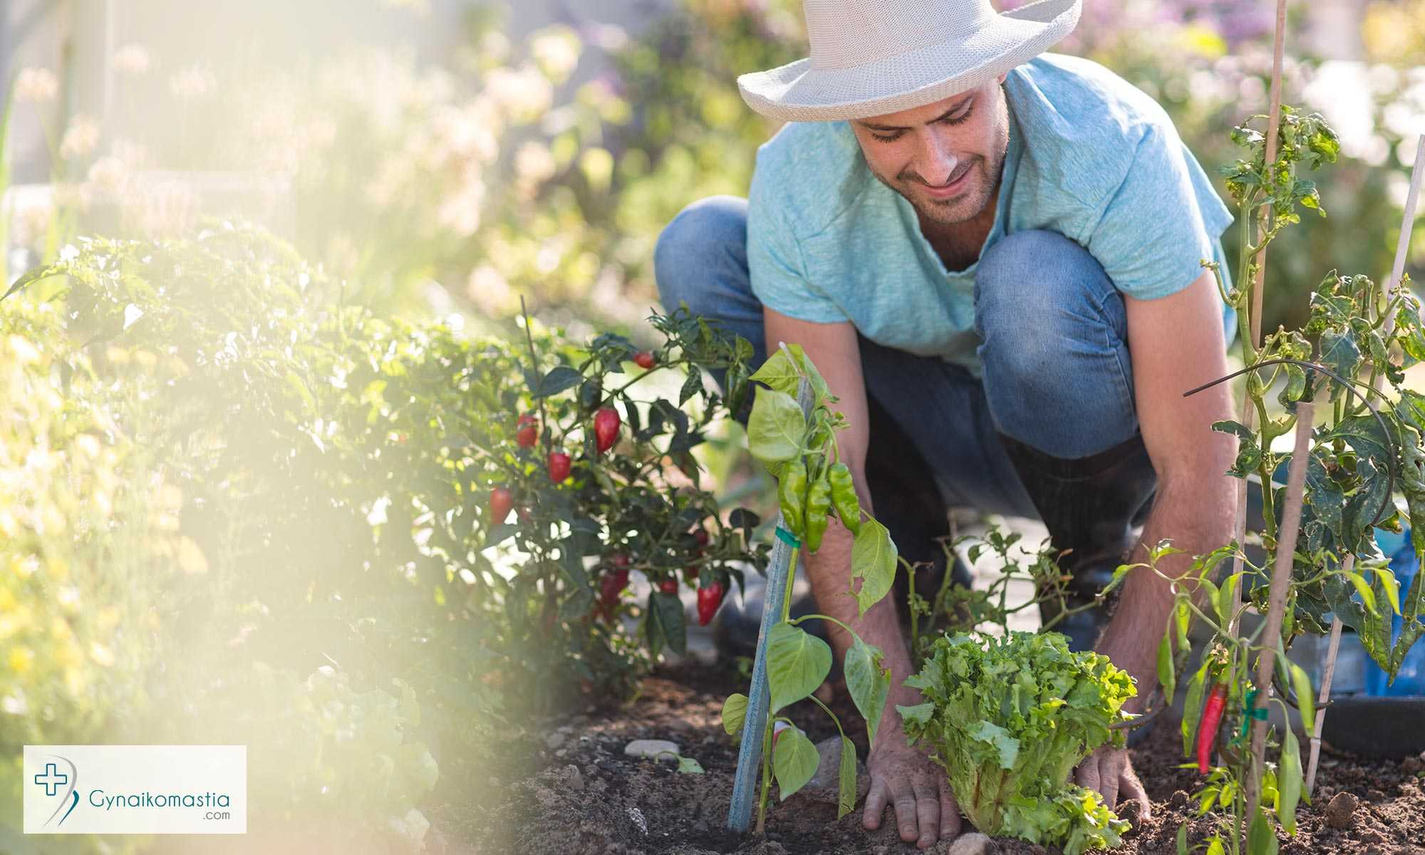
[[(797, 701), (815, 703), (831, 715), (841, 734), (838, 818), (851, 812), (856, 804), (856, 750), (836, 715), (812, 694), (831, 673), (832, 651), (825, 641), (807, 633), (799, 624), (822, 620), (851, 634), (852, 644), (844, 663), (846, 688), (866, 720), (866, 738), (872, 744), (891, 691), (891, 670), (882, 664), (882, 651), (862, 641), (845, 623), (826, 614), (789, 618), (789, 593), (797, 577), (798, 556), (802, 549), (815, 553), (821, 547), (829, 519), (835, 514), (855, 536), (851, 550), (854, 590), (848, 596), (856, 598), (859, 614), (865, 614), (891, 590), (896, 547), (886, 527), (861, 507), (851, 470), (841, 462), (835, 442), (835, 432), (846, 426), (845, 416), (831, 408), (838, 398), (831, 395), (801, 346), (787, 345), (767, 359), (751, 379), (767, 388), (757, 390), (747, 423), (748, 445), (752, 456), (778, 480), (781, 526), (777, 536), (791, 546), (788, 596), (782, 601), (781, 620), (772, 624), (767, 638), (771, 707), (762, 732), (762, 787), (757, 818), (760, 832), (767, 818), (772, 778), (785, 801), (817, 774), (817, 747), (789, 718), (778, 715)], [(795, 398), (802, 379), (812, 390), (809, 418)], [(861, 580), (859, 587), (855, 587), (855, 580)], [(744, 694), (732, 694), (724, 703), (722, 727), (730, 735), (741, 732), (747, 704), (748, 697)], [(778, 722), (791, 727), (777, 732)]]

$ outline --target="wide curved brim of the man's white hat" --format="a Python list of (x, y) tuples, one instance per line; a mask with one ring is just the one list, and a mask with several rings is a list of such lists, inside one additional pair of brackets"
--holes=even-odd
[(747, 105), (782, 121), (868, 118), (978, 88), (1057, 44), (1079, 23), (1082, 0), (1040, 0), (995, 16), (955, 44), (932, 44), (849, 68), (798, 60), (742, 74)]

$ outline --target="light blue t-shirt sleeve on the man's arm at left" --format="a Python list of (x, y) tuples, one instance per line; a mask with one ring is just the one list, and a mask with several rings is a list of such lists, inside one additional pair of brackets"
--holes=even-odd
[(846, 314), (807, 276), (797, 235), (778, 209), (770, 181), (754, 172), (747, 204), (747, 266), (752, 294), (788, 318), (834, 323)]

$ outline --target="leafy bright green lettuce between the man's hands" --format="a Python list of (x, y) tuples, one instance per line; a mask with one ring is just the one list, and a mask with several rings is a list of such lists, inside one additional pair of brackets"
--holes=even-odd
[(1123, 742), (1110, 725), (1136, 691), (1107, 657), (1069, 653), (1056, 633), (959, 633), (906, 685), (926, 698), (898, 707), (906, 737), (932, 751), (976, 828), (1069, 855), (1119, 844), (1127, 822), (1069, 784), (1094, 748)]

